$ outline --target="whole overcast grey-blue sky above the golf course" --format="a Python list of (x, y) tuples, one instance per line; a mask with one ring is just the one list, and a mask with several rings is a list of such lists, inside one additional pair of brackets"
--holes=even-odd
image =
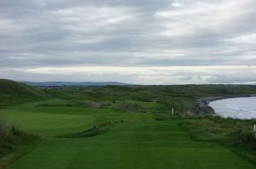
[(256, 83), (256, 1), (1, 0), (0, 78)]

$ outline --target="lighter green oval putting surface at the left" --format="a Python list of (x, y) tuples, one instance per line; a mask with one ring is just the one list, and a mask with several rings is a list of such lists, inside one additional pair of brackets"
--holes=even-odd
[(0, 114), (3, 121), (8, 121), (26, 132), (57, 132), (70, 128), (86, 127), (95, 120), (90, 115), (61, 115), (54, 113), (22, 112), (6, 110)]

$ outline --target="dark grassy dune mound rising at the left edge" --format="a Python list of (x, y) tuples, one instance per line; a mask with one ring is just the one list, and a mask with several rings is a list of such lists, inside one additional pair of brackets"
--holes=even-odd
[(44, 92), (38, 88), (20, 82), (0, 79), (0, 107), (42, 97), (44, 97)]

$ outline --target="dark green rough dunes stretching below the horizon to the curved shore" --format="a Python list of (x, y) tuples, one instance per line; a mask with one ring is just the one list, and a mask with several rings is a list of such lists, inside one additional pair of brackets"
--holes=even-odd
[[(171, 85), (171, 86), (104, 86), (46, 89), (54, 98), (90, 100), (94, 102), (108, 101), (128, 103), (137, 101), (138, 106), (144, 107), (140, 102), (158, 103), (159, 107), (150, 108), (149, 111), (170, 113), (172, 107), (177, 115), (186, 115), (195, 108), (195, 103), (203, 97), (253, 94), (256, 87), (253, 85)], [(119, 105), (121, 108), (122, 105)], [(124, 106), (123, 106), (124, 107)], [(135, 107), (135, 103), (131, 106)]]

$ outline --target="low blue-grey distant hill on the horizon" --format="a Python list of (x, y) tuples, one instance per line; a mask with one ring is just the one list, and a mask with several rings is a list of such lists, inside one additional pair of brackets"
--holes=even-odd
[(121, 82), (22, 82), (34, 87), (63, 87), (63, 86), (107, 86), (107, 85), (128, 85)]

